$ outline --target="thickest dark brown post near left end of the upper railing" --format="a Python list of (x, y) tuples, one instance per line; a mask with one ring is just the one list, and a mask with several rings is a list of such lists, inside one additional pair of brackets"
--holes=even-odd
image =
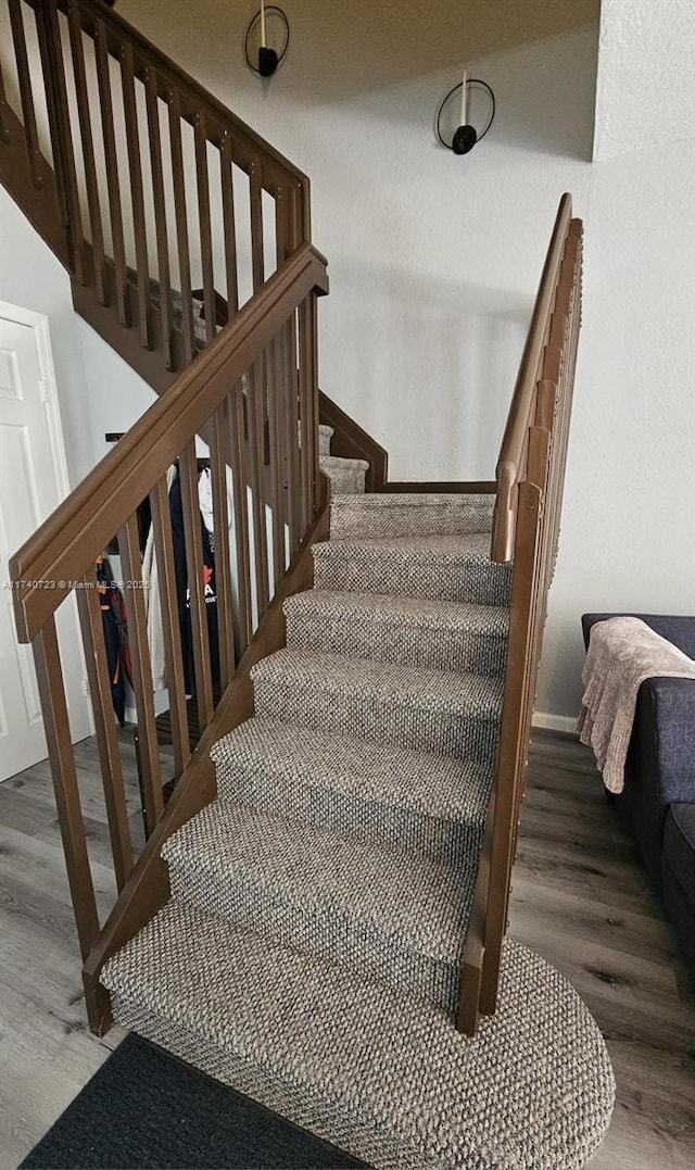
[(46, 4), (39, 6), (35, 13), (59, 199), (63, 208), (64, 223), (68, 229), (73, 275), (81, 284), (84, 284), (84, 234), (82, 232), (82, 211), (80, 207), (80, 192), (77, 190), (73, 129), (68, 111), (66, 69), (57, 8), (54, 4)]

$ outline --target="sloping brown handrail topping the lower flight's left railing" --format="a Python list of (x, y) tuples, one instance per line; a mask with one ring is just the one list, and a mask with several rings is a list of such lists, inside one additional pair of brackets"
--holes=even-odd
[(328, 291), (326, 261), (304, 243), (11, 558), (20, 641), (35, 636), (312, 290)]

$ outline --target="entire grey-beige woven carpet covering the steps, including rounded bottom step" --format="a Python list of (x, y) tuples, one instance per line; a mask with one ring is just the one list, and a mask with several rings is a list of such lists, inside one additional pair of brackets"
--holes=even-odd
[(164, 846), (171, 901), (104, 969), (116, 1018), (378, 1168), (579, 1168), (612, 1074), (557, 972), (508, 944), (497, 1014), (453, 1023), (509, 626), (490, 497), (365, 496), (319, 441), (315, 587)]

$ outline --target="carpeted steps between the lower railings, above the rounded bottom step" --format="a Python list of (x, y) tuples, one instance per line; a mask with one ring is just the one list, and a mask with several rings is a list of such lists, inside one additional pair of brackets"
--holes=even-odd
[[(491, 518), (489, 496), (335, 497), (315, 587), (252, 670), (254, 717), (212, 751), (218, 798), (165, 844), (160, 921), (194, 907), (201, 938), (222, 917), (455, 1013), (509, 619)], [(159, 942), (136, 942), (138, 965), (173, 989)], [(130, 1021), (126, 963), (103, 979)]]

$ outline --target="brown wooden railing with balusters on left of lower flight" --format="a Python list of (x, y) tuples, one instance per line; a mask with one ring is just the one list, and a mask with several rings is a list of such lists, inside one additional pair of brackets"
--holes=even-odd
[[(110, 675), (96, 589), (95, 560), (118, 534), (123, 597), (132, 659), (140, 744), (140, 784), (146, 835), (163, 817), (163, 771), (156, 709), (146, 601), (138, 544), (137, 509), (149, 496), (157, 557), (166, 681), (171, 708), (173, 766), (184, 784), (192, 769), (207, 768), (207, 748), (192, 751), (179, 610), (190, 606), (194, 693), (199, 731), (212, 728), (219, 695), (232, 687), (238, 663), (274, 594), (296, 562), (319, 509), (318, 379), (316, 298), (328, 290), (325, 260), (303, 243), (254, 297), (239, 310), (166, 394), (138, 420), (116, 447), (63, 501), (11, 559), (11, 579), (20, 641), (30, 642), (48, 742), (59, 820), (77, 935), (85, 963), (108, 957), (81, 806), (69, 711), (63, 686), (55, 614), (69, 596), (80, 612), (89, 691), (102, 768), (104, 799), (118, 892), (113, 922), (124, 942), (128, 899), (140, 876), (133, 874), (135, 848), (124, 769), (112, 710)], [(219, 679), (214, 679), (206, 612), (201, 514), (195, 436), (209, 440), (214, 515), (214, 567)], [(177, 583), (167, 469), (178, 460), (190, 600)], [(151, 600), (150, 606), (154, 603)], [(266, 651), (267, 653), (268, 651)], [(214, 686), (218, 683), (218, 686)], [(216, 735), (225, 728), (219, 728)], [(208, 736), (209, 738), (209, 736)], [(206, 780), (207, 783), (207, 780)], [(207, 791), (207, 790), (206, 790)], [(174, 797), (177, 792), (174, 792)], [(207, 794), (207, 799), (212, 793)], [(188, 815), (206, 803), (200, 793)], [(173, 804), (173, 799), (172, 799)], [(173, 825), (176, 827), (176, 824)], [(151, 856), (147, 846), (140, 858)], [(138, 872), (138, 873), (139, 873)], [(150, 910), (164, 901), (161, 888), (149, 895)], [(130, 893), (129, 893), (130, 890)], [(131, 914), (130, 934), (146, 917)], [(130, 937), (130, 935), (126, 935)], [(98, 987), (99, 963), (85, 978), (91, 1026), (108, 1024), (108, 1005)]]

